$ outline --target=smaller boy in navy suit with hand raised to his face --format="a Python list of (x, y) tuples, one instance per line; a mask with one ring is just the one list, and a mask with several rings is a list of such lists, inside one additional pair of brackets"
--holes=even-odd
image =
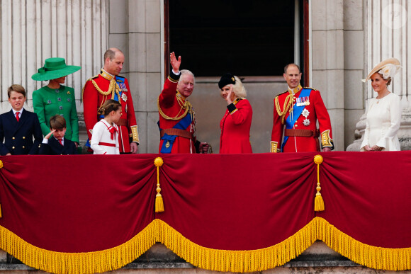
[(64, 138), (66, 134), (66, 120), (61, 115), (50, 118), (50, 133), (45, 135), (38, 154), (68, 155), (77, 154), (76, 144)]

